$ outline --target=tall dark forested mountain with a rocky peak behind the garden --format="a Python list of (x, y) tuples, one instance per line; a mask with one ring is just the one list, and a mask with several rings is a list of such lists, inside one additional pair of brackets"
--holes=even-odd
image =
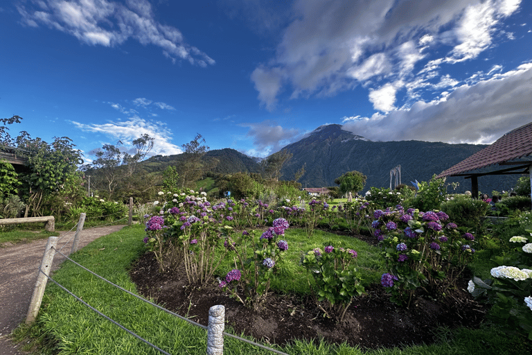
[[(369, 187), (389, 187), (390, 171), (401, 166), (402, 183), (428, 181), (432, 175), (486, 148), (482, 144), (447, 144), (427, 141), (370, 141), (342, 130), (341, 125), (322, 125), (307, 137), (285, 146), (292, 153), (283, 170), (283, 180), (292, 180), (294, 173), (305, 164), (305, 174), (299, 180), (303, 187), (336, 186), (334, 180), (347, 171), (360, 171), (367, 176)], [(480, 191), (508, 190), (519, 176), (496, 175), (479, 179)], [(457, 191), (471, 189), (470, 180), (448, 178), (459, 182)], [(449, 188), (451, 190), (451, 188)], [(451, 192), (451, 191), (449, 191)]]

